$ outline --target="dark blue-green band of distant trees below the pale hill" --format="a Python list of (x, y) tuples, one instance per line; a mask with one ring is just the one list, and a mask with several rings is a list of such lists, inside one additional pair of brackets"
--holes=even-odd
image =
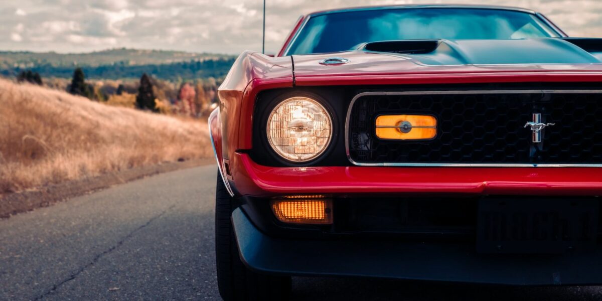
[[(220, 60), (203, 61), (184, 61), (172, 64), (149, 64), (127, 66), (121, 64), (104, 65), (98, 67), (81, 66), (82, 71), (88, 78), (94, 79), (124, 79), (139, 78), (141, 74), (146, 73), (156, 78), (177, 81), (179, 79), (194, 78), (221, 78), (228, 74), (228, 70), (234, 64), (234, 58)], [(57, 67), (51, 64), (42, 64), (31, 67), (27, 70), (15, 67), (14, 69), (0, 70), (4, 76), (14, 76), (23, 71), (39, 73), (43, 77), (70, 78), (73, 74), (73, 67)]]

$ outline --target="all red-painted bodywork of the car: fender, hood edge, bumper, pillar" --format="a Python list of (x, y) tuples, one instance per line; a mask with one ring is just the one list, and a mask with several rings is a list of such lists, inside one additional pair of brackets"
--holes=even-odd
[[(602, 65), (426, 66), (400, 55), (370, 52), (282, 57), (306, 17), (301, 17), (278, 57), (246, 51), (219, 88), (220, 107), (209, 117), (220, 168), (231, 164), (239, 194), (462, 193), (602, 194), (602, 173), (590, 168), (401, 168), (259, 166), (238, 152), (251, 149), (258, 93), (275, 88), (329, 85), (473, 84), (494, 82), (602, 82)], [(323, 66), (326, 57), (350, 63)], [(293, 83), (294, 81), (294, 83)], [(602, 84), (601, 84), (602, 88)]]

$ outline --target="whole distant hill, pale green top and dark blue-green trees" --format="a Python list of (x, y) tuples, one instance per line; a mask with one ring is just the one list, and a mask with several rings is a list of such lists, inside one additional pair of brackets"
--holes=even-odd
[(32, 70), (43, 78), (70, 78), (75, 67), (82, 67), (90, 79), (140, 78), (142, 73), (166, 80), (221, 78), (234, 60), (232, 55), (137, 49), (85, 54), (0, 52), (0, 75), (14, 77), (22, 70)]

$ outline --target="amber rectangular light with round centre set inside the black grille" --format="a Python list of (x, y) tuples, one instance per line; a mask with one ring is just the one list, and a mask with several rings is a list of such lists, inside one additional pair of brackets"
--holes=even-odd
[(430, 115), (380, 115), (376, 137), (389, 140), (429, 140), (437, 135), (437, 119)]

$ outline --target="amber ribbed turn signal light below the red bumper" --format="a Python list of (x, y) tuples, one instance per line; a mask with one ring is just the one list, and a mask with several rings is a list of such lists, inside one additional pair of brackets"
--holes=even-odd
[(272, 211), (284, 223), (331, 224), (332, 200), (317, 196), (294, 196), (272, 200)]

